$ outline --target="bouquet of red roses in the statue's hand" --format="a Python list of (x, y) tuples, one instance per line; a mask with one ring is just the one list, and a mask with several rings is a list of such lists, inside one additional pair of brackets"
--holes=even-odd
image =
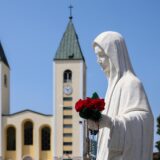
[(80, 117), (98, 121), (101, 118), (101, 111), (104, 110), (104, 106), (104, 99), (100, 99), (95, 92), (93, 93), (92, 98), (87, 97), (84, 100), (78, 100), (75, 109), (79, 112)]

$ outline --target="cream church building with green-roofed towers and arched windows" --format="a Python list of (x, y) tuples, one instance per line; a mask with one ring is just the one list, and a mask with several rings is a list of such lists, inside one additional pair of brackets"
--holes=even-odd
[(83, 160), (86, 125), (74, 105), (86, 96), (86, 63), (72, 17), (53, 59), (54, 115), (10, 113), (10, 66), (0, 43), (0, 159)]

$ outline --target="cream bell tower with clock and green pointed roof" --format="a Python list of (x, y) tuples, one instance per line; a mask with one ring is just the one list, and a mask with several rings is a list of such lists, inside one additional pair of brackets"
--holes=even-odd
[(86, 63), (72, 16), (53, 60), (54, 159), (82, 160), (85, 124), (75, 103), (86, 96)]

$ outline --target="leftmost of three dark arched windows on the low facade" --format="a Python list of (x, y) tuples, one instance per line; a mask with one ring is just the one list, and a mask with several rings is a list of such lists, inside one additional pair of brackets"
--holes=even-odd
[(7, 150), (16, 150), (16, 130), (14, 127), (9, 127), (7, 129)]

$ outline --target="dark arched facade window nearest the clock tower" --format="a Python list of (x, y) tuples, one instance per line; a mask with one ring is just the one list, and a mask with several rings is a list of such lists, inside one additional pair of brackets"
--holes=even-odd
[(51, 148), (51, 130), (49, 127), (44, 127), (41, 130), (41, 149), (43, 151)]

